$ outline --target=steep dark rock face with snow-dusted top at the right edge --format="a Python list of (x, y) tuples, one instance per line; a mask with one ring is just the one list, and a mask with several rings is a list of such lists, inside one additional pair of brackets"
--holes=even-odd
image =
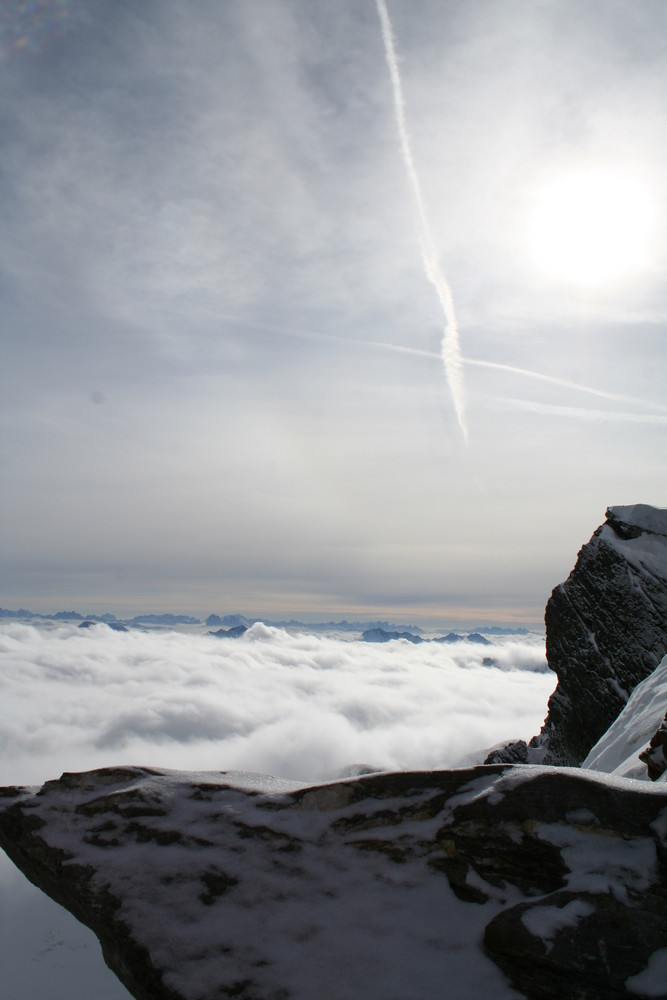
[(530, 746), (533, 759), (576, 765), (667, 652), (667, 510), (610, 507), (545, 622), (558, 686)]

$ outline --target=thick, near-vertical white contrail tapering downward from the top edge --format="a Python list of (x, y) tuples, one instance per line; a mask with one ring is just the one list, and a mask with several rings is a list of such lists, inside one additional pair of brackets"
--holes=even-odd
[(403, 99), (403, 88), (401, 86), (401, 76), (398, 71), (398, 59), (396, 58), (396, 47), (394, 45), (394, 32), (389, 19), (389, 11), (385, 0), (376, 0), (377, 11), (382, 28), (382, 40), (384, 42), (384, 52), (387, 60), (387, 68), (391, 78), (391, 86), (394, 94), (394, 114), (396, 116), (396, 127), (401, 143), (403, 162), (408, 175), (408, 181), (417, 207), (417, 219), (419, 223), (419, 241), (421, 243), (422, 260), (424, 272), (436, 290), (442, 311), (445, 316), (445, 329), (442, 336), (441, 356), (445, 369), (445, 378), (452, 394), (454, 410), (463, 434), (463, 440), (468, 443), (468, 431), (465, 422), (465, 386), (463, 380), (463, 361), (461, 349), (459, 347), (459, 328), (456, 322), (454, 311), (454, 301), (452, 293), (443, 273), (438, 254), (435, 249), (431, 227), (426, 216), (424, 198), (422, 196), (419, 176), (412, 156), (410, 136), (405, 121), (405, 101)]

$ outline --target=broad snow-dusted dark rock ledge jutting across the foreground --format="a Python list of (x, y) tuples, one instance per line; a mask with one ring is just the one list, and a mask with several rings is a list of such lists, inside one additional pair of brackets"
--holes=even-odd
[(625, 997), (665, 946), (666, 817), (664, 785), (508, 765), (0, 791), (0, 843), (137, 1000)]

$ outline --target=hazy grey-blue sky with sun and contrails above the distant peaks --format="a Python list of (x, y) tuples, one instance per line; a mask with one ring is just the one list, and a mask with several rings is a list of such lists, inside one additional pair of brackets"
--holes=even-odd
[(0, 5), (0, 604), (538, 623), (665, 505), (666, 86), (662, 0)]

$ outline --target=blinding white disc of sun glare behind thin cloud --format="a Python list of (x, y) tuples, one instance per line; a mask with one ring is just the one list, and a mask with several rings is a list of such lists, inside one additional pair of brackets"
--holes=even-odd
[(606, 167), (573, 169), (544, 183), (529, 227), (543, 274), (581, 286), (635, 277), (650, 261), (654, 211), (635, 174)]

